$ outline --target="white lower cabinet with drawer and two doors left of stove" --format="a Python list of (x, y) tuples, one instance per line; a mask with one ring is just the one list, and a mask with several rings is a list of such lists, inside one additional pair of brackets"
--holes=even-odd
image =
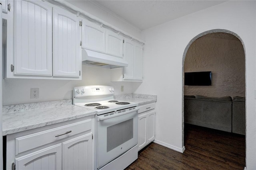
[(93, 115), (7, 135), (6, 170), (94, 169), (94, 120)]

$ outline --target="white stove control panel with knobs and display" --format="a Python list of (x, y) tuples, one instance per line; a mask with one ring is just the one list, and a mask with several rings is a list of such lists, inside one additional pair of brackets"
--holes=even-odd
[(74, 87), (73, 90), (74, 98), (100, 95), (114, 95), (114, 88), (112, 86), (79, 86)]

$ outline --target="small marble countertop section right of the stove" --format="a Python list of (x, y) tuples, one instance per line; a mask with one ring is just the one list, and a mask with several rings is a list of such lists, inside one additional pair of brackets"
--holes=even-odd
[(139, 106), (144, 104), (150, 104), (156, 102), (156, 95), (148, 95), (148, 94), (120, 94), (114, 96), (115, 100), (122, 100), (125, 102), (135, 102), (138, 103)]

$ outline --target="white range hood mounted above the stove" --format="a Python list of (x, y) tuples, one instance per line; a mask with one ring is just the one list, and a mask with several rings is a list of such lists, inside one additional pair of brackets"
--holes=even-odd
[(89, 49), (82, 49), (82, 64), (105, 68), (118, 68), (128, 66), (128, 63), (120, 57), (115, 57)]

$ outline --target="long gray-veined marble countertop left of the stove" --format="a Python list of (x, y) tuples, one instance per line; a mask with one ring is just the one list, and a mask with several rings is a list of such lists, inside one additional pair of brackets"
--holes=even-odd
[(2, 130), (5, 136), (95, 114), (72, 100), (3, 106)]

